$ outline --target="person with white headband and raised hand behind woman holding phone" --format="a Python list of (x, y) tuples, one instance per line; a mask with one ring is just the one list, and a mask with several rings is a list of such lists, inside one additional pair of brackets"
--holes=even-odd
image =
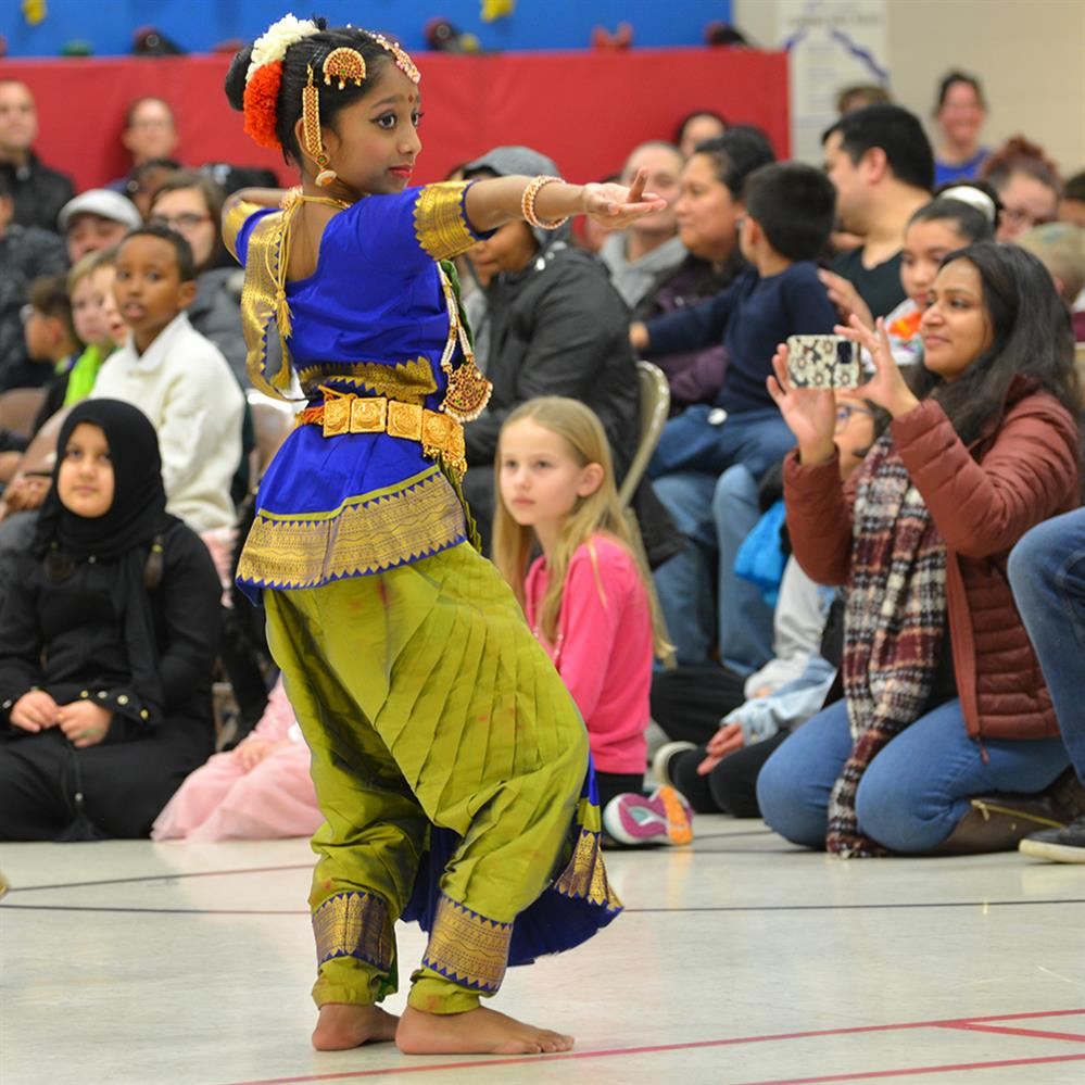
[[(885, 317), (885, 331), (897, 365), (922, 361), (919, 324), (942, 261), (956, 249), (993, 238), (997, 220), (995, 201), (982, 189), (963, 184), (939, 192), (908, 219), (900, 250), (900, 287), (906, 297)], [(819, 277), (844, 323), (854, 314), (865, 327), (873, 329), (874, 318), (867, 303), (847, 279), (825, 270)]]

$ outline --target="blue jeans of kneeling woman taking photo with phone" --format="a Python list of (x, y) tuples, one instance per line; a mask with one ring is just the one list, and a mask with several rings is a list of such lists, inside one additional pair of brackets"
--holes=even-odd
[[(969, 811), (969, 798), (1042, 792), (1067, 767), (1058, 739), (985, 739), (983, 745), (986, 764), (956, 698), (921, 716), (863, 773), (855, 804), (859, 828), (891, 851), (930, 851)], [(790, 735), (757, 778), (769, 827), (793, 844), (824, 847), (829, 794), (850, 752), (844, 701)]]

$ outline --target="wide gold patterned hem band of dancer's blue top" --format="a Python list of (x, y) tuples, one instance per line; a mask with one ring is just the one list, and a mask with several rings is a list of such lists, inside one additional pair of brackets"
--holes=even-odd
[(466, 539), (455, 490), (432, 467), (402, 483), (348, 499), (340, 510), (275, 519), (257, 513), (238, 579), (263, 588), (314, 588), (381, 572)]

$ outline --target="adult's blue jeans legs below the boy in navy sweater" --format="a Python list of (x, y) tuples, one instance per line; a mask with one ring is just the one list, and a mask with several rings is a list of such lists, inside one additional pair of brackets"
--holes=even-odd
[(719, 479), (682, 471), (654, 485), (689, 542), (655, 572), (679, 663), (703, 664), (719, 644), (724, 665), (739, 674), (753, 673), (772, 658), (772, 607), (748, 580), (735, 576), (734, 558), (761, 515), (757, 480), (740, 464)]

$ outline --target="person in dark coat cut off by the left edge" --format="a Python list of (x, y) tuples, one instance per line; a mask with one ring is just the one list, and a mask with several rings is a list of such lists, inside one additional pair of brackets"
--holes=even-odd
[(0, 392), (36, 388), (48, 378), (48, 371), (26, 356), (20, 314), (30, 283), (67, 266), (64, 242), (51, 230), (20, 226), (12, 220), (14, 212), (10, 182), (0, 172)]

